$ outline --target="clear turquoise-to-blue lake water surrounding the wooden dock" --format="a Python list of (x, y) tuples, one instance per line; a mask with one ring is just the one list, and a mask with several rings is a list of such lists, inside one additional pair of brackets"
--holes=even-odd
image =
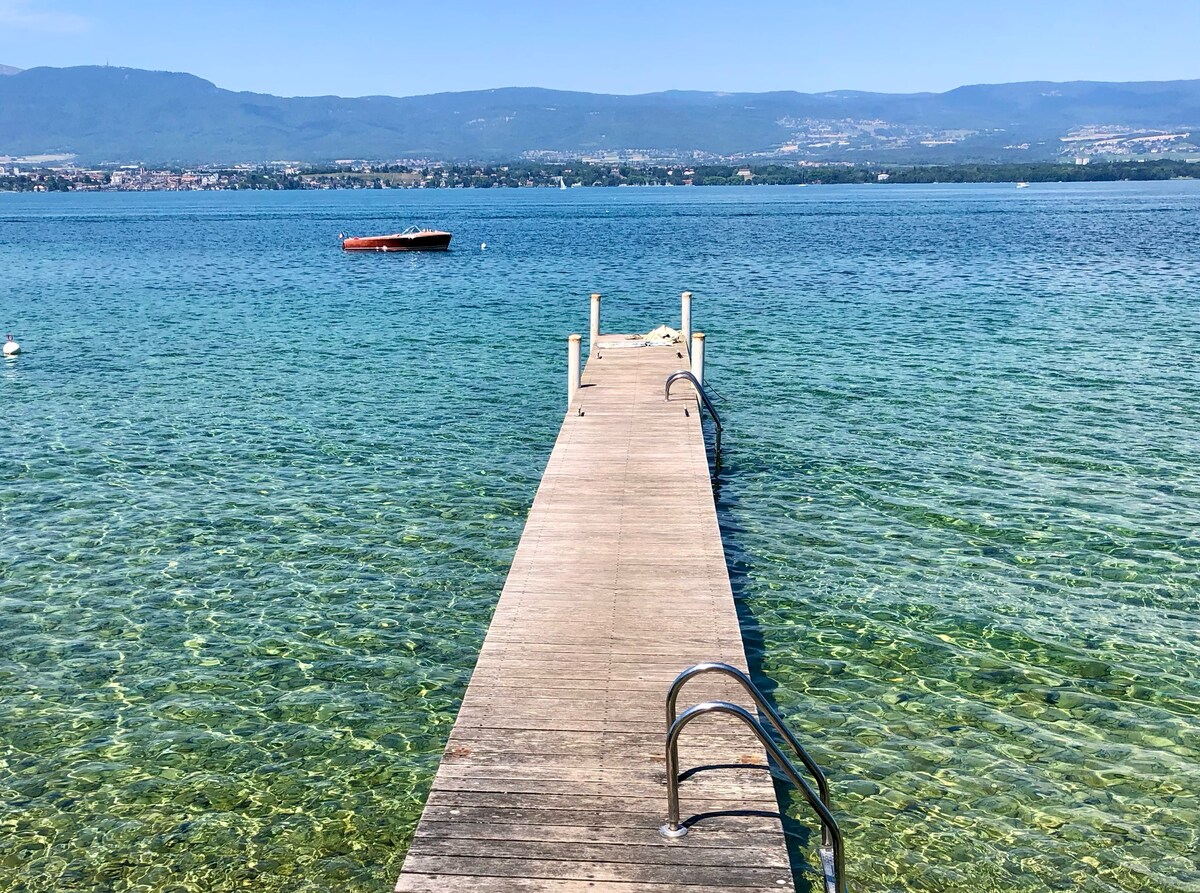
[(565, 336), (683, 289), (853, 889), (1200, 891), (1194, 181), (0, 194), (0, 891), (390, 889)]

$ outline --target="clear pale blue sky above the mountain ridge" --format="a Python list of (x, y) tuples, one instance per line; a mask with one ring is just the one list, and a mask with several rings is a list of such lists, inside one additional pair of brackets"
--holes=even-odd
[(106, 62), (284, 96), (1158, 80), (1200, 77), (1200, 2), (0, 0), (0, 64)]

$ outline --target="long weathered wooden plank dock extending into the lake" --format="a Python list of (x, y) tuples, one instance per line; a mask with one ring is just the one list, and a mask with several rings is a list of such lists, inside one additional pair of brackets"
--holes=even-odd
[[(690, 833), (667, 840), (664, 699), (691, 664), (745, 667), (683, 347), (593, 346), (529, 511), (397, 893), (790, 891), (762, 747), (684, 732)], [(611, 347), (610, 347), (611, 346)], [(750, 706), (719, 677), (680, 709)], [(710, 815), (706, 815), (710, 814)]]

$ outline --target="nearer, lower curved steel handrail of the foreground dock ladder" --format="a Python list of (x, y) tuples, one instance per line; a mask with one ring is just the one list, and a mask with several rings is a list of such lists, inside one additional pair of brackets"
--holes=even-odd
[(845, 845), (841, 838), (841, 829), (838, 827), (838, 820), (833, 817), (833, 814), (821, 802), (816, 792), (809, 787), (808, 781), (800, 778), (792, 761), (787, 759), (787, 755), (767, 735), (767, 730), (763, 729), (757, 717), (752, 715), (745, 707), (739, 707), (736, 703), (727, 701), (704, 701), (703, 703), (697, 703), (695, 707), (689, 707), (680, 713), (667, 730), (667, 823), (659, 828), (659, 833), (665, 838), (680, 838), (688, 833), (688, 828), (679, 823), (679, 733), (691, 720), (706, 713), (727, 713), (750, 726), (750, 731), (755, 733), (760, 743), (767, 748), (767, 753), (784, 769), (787, 780), (804, 795), (804, 799), (809, 802), (809, 805), (812, 807), (814, 811), (821, 819), (822, 840), (817, 851), (821, 855), (821, 869), (824, 874), (826, 893), (848, 893), (850, 888), (846, 886)]

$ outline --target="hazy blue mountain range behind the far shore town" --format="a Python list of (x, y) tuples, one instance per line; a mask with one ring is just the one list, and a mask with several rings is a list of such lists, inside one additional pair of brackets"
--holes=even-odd
[(1200, 157), (1200, 80), (960, 86), (943, 94), (610, 96), (532, 88), (282, 98), (191, 74), (30, 68), (0, 78), (0, 156), (260, 162), (559, 156), (893, 163)]

